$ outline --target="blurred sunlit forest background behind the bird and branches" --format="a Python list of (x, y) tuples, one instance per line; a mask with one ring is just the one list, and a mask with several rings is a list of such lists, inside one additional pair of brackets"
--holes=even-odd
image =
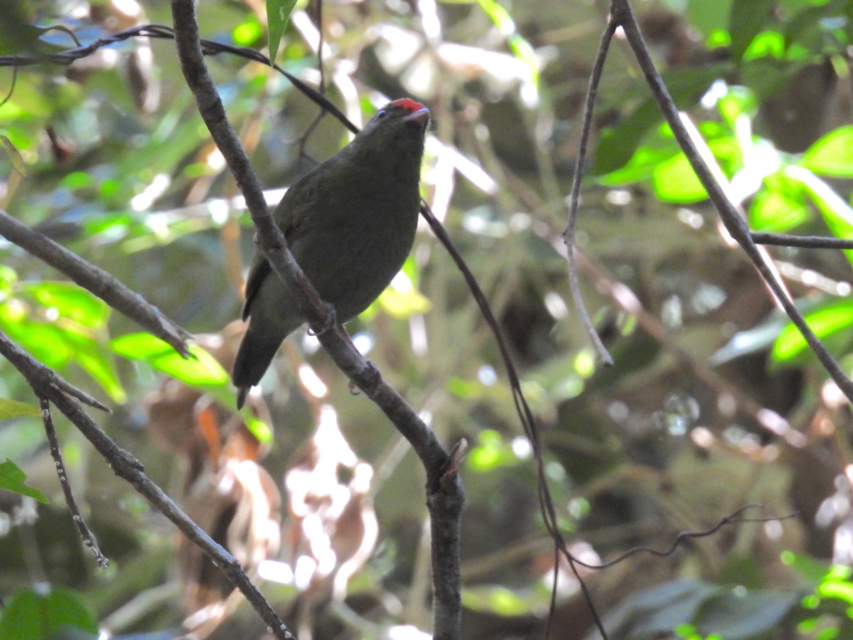
[[(751, 229), (853, 238), (850, 3), (632, 6)], [(266, 47), (263, 3), (197, 10), (202, 38)], [(679, 532), (744, 520), (667, 556), (582, 568), (608, 633), (850, 637), (850, 403), (722, 229), (619, 34), (577, 221), (581, 293), (612, 367), (577, 319), (561, 235), (607, 11), (593, 0), (323, 3), (321, 74), (317, 6), (299, 3), (276, 61), (322, 83), (357, 125), (400, 96), (430, 108), (422, 195), (512, 348), (575, 556), (668, 550)], [(69, 30), (86, 44), (148, 23), (171, 24), (169, 3), (9, 2), (0, 60), (72, 49)], [(349, 139), (269, 67), (206, 62), (270, 191)], [(0, 209), (142, 294), (212, 358), (183, 361), (3, 238), (0, 330), (113, 410), (90, 413), (243, 554), (300, 638), (428, 637), (424, 474), (386, 417), (304, 330), (248, 410), (233, 410), (227, 372), (252, 224), (174, 43), (129, 38), (70, 66), (3, 65)], [(767, 251), (850, 375), (853, 252)], [(467, 440), (462, 637), (543, 637), (554, 552), (531, 445), (495, 341), (425, 224), (401, 274), (347, 329), (445, 446)], [(0, 637), (171, 638), (194, 612), (201, 635), (268, 637), (200, 551), (59, 418), (68, 478), (110, 559), (97, 567), (62, 497), (38, 399), (4, 359), (0, 399), (30, 405), (0, 402)], [(761, 506), (738, 511), (749, 504)], [(558, 572), (550, 637), (598, 637), (577, 579)], [(34, 631), (45, 610), (49, 629)]]

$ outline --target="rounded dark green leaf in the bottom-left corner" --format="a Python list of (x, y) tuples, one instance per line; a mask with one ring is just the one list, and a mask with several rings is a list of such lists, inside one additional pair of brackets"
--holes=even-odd
[(3, 640), (52, 640), (68, 637), (74, 631), (84, 631), (94, 638), (97, 620), (76, 593), (57, 587), (15, 592), (6, 600), (0, 617)]

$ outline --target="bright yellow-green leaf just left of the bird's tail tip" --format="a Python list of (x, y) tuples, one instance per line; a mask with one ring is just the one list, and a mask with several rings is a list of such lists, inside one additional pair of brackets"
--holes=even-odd
[(111, 343), (113, 351), (131, 360), (144, 360), (154, 369), (195, 387), (220, 386), (229, 376), (216, 358), (198, 345), (190, 345), (184, 359), (171, 346), (151, 334), (129, 334)]

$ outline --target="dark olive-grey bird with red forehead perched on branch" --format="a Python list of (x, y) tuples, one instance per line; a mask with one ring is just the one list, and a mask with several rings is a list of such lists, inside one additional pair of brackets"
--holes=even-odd
[[(414, 100), (389, 102), (351, 143), (293, 183), (273, 213), (287, 247), (322, 300), (334, 306), (339, 323), (364, 311), (409, 255), (428, 121), (429, 111)], [(260, 253), (247, 280), (247, 318), (232, 373), (238, 408), (281, 341), (305, 323)]]

